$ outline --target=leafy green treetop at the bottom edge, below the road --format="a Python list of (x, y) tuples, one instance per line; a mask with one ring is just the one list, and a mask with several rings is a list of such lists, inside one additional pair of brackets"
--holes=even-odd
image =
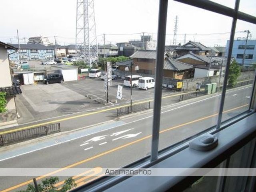
[[(65, 180), (62, 188), (57, 188), (54, 186), (59, 181), (58, 177), (50, 177), (42, 180), (42, 184), (38, 184), (38, 191), (39, 192), (67, 192), (70, 191), (72, 188), (76, 187), (75, 180), (71, 177)], [(34, 185), (28, 184), (26, 190), (20, 190), (18, 192), (36, 192), (36, 188)]]

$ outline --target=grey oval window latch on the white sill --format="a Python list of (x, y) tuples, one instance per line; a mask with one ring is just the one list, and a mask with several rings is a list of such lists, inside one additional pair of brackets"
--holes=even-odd
[(218, 145), (218, 138), (211, 134), (205, 134), (192, 140), (188, 146), (197, 151), (209, 151)]

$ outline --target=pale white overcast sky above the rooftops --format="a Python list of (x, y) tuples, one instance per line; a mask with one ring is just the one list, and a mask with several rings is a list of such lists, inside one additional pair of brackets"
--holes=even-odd
[[(213, 0), (234, 8), (235, 0)], [(94, 0), (97, 42), (127, 42), (152, 35), (156, 40), (158, 0)], [(76, 0), (1, 0), (0, 41), (20, 43), (23, 38), (47, 36), (51, 42), (74, 44), (76, 33)], [(256, 16), (255, 0), (240, 0), (240, 11)], [(225, 46), (230, 36), (232, 19), (227, 16), (169, 0), (166, 26), (166, 45), (172, 44), (174, 20), (178, 16), (177, 44), (189, 40), (206, 46)], [(250, 30), (256, 39), (256, 26), (238, 21), (235, 37), (244, 38)], [(27, 41), (27, 39), (26, 39)]]

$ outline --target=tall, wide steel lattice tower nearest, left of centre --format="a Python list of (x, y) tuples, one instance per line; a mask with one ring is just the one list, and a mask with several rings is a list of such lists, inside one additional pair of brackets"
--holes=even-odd
[(80, 55), (89, 66), (98, 61), (94, 0), (76, 2), (76, 59)]

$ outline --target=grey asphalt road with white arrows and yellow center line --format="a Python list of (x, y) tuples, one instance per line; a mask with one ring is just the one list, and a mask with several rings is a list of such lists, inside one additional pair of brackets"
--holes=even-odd
[[(228, 90), (223, 120), (248, 110), (250, 94), (251, 86)], [(162, 108), (159, 149), (214, 126), (219, 102), (220, 95), (213, 94)], [(95, 118), (104, 120), (102, 113), (95, 115)], [(88, 119), (83, 118), (70, 119), (70, 125), (85, 124)], [(150, 154), (151, 133), (152, 111), (134, 114), (40, 142), (1, 148), (0, 167), (118, 168)], [(44, 176), (38, 179), (42, 178)], [(81, 185), (94, 178), (81, 176), (75, 179)], [(20, 176), (0, 177), (0, 190), (20, 190), (32, 182), (31, 179), (32, 177)]]

